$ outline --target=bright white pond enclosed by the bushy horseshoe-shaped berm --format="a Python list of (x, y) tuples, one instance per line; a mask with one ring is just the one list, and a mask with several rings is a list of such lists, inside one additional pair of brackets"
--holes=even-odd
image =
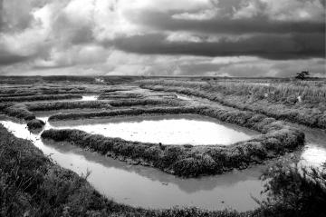
[(74, 128), (87, 133), (143, 143), (228, 145), (248, 140), (257, 134), (234, 124), (219, 123), (215, 119), (192, 114), (92, 119), (50, 124), (52, 128)]

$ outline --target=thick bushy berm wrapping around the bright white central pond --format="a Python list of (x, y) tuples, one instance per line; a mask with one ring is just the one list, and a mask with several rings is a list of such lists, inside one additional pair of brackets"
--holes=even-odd
[(249, 141), (224, 145), (168, 145), (139, 143), (85, 133), (79, 130), (47, 130), (43, 139), (70, 142), (129, 163), (149, 165), (178, 176), (196, 177), (245, 169), (253, 163), (292, 152), (304, 143), (304, 133), (263, 114), (226, 111), (212, 107), (156, 107), (121, 109), (100, 113), (54, 114), (49, 121), (128, 115), (195, 113), (226, 123), (245, 126), (262, 134)]

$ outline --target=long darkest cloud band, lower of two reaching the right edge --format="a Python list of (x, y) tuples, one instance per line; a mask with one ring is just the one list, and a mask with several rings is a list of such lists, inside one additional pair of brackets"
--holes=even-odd
[(117, 38), (114, 44), (138, 54), (254, 55), (275, 60), (325, 56), (322, 34), (254, 35), (236, 41), (225, 37), (218, 42), (169, 42), (165, 35), (136, 35)]

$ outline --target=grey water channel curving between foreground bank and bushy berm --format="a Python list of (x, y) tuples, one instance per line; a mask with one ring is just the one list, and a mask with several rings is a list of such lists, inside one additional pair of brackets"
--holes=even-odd
[[(43, 117), (44, 118), (44, 117)], [(133, 206), (171, 208), (197, 206), (209, 210), (234, 208), (251, 210), (257, 206), (251, 195), (260, 199), (263, 183), (258, 180), (261, 166), (245, 172), (182, 179), (154, 168), (128, 165), (99, 153), (90, 153), (67, 143), (49, 143), (40, 133), (30, 133), (25, 123), (0, 120), (19, 138), (33, 141), (44, 154), (75, 173), (91, 171), (88, 181), (108, 198)], [(52, 126), (47, 124), (46, 128)]]

